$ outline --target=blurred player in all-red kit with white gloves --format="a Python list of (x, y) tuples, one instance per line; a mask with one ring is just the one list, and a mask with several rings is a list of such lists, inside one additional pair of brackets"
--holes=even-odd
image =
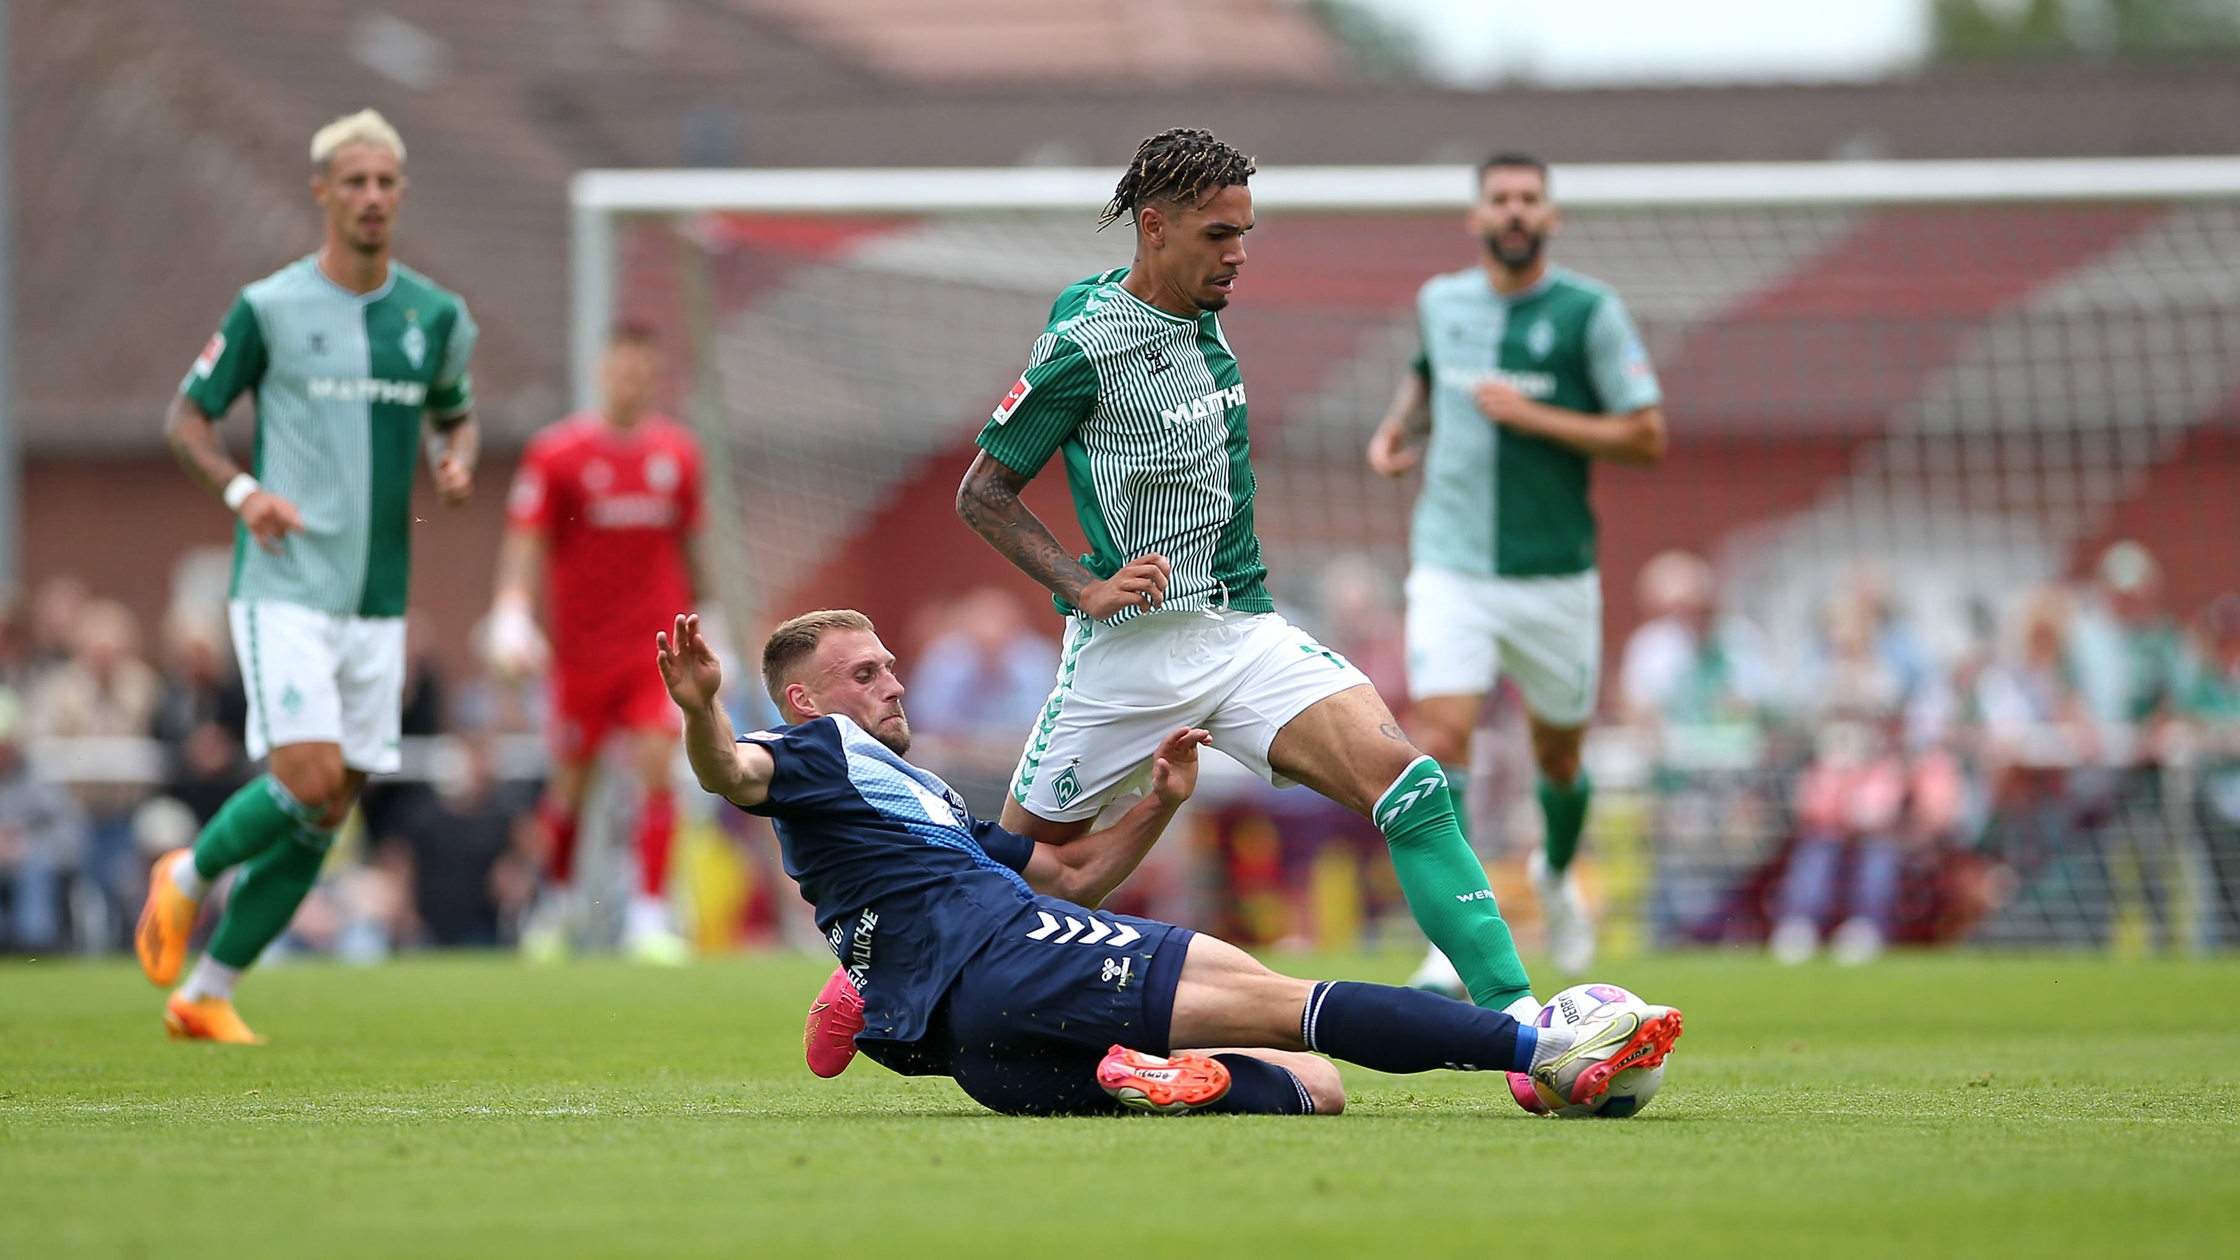
[[(652, 332), (623, 325), (600, 363), (600, 408), (538, 433), (506, 500), (491, 659), (515, 677), (549, 659), (553, 697), (553, 776), (538, 805), (547, 886), (522, 930), (529, 957), (567, 953), (576, 830), (591, 767), (616, 733), (629, 740), (645, 800), (636, 830), (638, 890), (623, 921), (623, 951), (645, 962), (683, 962), (690, 953), (668, 908), (676, 706), (661, 675), (645, 668), (645, 650), (679, 608), (692, 608), (708, 590), (699, 543), (701, 455), (685, 426), (652, 410), (659, 372)], [(540, 578), (549, 648), (535, 623)]]

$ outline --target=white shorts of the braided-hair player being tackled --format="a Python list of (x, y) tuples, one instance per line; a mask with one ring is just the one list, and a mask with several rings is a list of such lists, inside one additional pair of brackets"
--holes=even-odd
[(1317, 700), (1369, 686), (1353, 661), (1275, 612), (1154, 612), (1120, 626), (1066, 621), (1066, 648), (1010, 796), (1037, 818), (1095, 818), (1120, 794), (1151, 785), (1151, 753), (1178, 726), (1277, 787), (1268, 767), (1286, 722)]

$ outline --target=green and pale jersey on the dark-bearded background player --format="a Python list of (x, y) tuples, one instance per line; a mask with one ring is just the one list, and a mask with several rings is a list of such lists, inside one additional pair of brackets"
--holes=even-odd
[(1413, 560), (1485, 578), (1593, 569), (1593, 462), (1485, 419), (1474, 390), (1508, 381), (1530, 399), (1588, 415), (1655, 404), (1658, 374), (1624, 303), (1559, 267), (1508, 296), (1494, 291), (1483, 267), (1467, 267), (1427, 280), (1416, 316), (1416, 372), (1431, 386), (1431, 446), (1409, 534)]

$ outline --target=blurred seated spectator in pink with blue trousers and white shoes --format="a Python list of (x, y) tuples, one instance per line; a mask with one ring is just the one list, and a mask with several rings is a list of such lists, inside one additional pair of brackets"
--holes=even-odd
[(1812, 957), (1830, 924), (1837, 962), (1877, 957), (1897, 926), (1908, 852), (1960, 821), (1958, 762), (1940, 747), (1906, 756), (1906, 682), (1877, 630), (1877, 610), (1857, 590), (1828, 612), (1814, 753), (1796, 780), (1796, 843), (1774, 895), (1770, 944), (1781, 962)]

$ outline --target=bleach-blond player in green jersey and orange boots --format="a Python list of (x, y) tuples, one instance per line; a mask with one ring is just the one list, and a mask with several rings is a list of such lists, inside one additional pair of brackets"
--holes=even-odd
[[(157, 861), (137, 951), (168, 986), (204, 892), (240, 868), (226, 915), (164, 1007), (175, 1038), (260, 1040), (233, 982), (287, 928), (367, 773), (399, 762), (412, 466), (466, 502), (475, 480), (466, 303), (390, 258), (405, 146), (363, 110), (311, 137), (318, 253), (249, 285), (164, 421), (172, 455), (237, 518), (228, 614), (249, 751), (269, 771)], [(217, 419), (255, 392), (255, 469)]]

